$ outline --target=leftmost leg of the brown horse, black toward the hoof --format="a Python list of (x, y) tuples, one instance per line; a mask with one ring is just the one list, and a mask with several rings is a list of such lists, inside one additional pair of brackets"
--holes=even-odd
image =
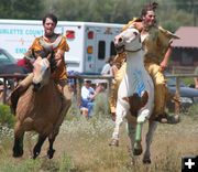
[(13, 144), (13, 157), (22, 157), (23, 155), (23, 137), (24, 137), (24, 131), (21, 127), (21, 122), (18, 121), (14, 127), (14, 144)]

